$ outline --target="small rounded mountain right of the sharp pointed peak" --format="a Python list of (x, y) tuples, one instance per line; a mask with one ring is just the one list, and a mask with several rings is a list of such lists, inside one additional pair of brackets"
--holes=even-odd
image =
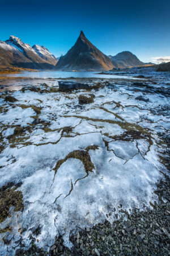
[(116, 68), (128, 68), (145, 65), (145, 63), (143, 63), (137, 58), (137, 56), (129, 51), (120, 52), (115, 56), (109, 55), (109, 57)]

